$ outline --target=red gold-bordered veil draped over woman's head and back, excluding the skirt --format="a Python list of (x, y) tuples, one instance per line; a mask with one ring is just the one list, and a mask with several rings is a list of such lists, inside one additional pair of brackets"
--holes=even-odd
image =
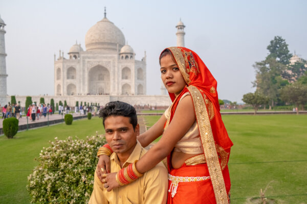
[[(192, 50), (185, 47), (168, 47), (167, 49), (176, 61), (187, 86), (177, 97), (174, 93), (169, 93), (173, 103), (165, 129), (171, 122), (181, 96), (190, 92), (216, 202), (228, 203), (222, 170), (228, 163), (230, 147), (233, 143), (222, 121), (216, 80), (205, 63)], [(218, 160), (219, 157), (221, 163)], [(170, 156), (168, 164), (170, 164)]]

